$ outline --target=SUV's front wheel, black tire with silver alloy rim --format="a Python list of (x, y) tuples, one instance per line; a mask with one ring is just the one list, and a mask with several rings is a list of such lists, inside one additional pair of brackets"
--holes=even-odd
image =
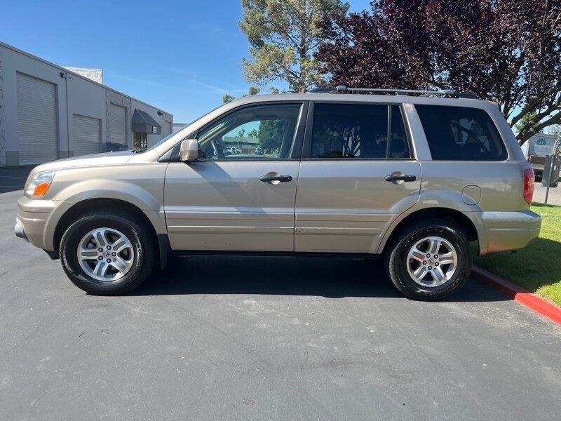
[[(99, 241), (92, 232), (102, 234), (97, 236)], [(79, 258), (79, 246), (88, 256)], [(156, 250), (154, 236), (142, 220), (127, 212), (104, 209), (72, 223), (62, 235), (59, 253), (62, 268), (74, 285), (92, 295), (113, 295), (133, 290), (147, 279)], [(107, 263), (109, 260), (112, 262)]]

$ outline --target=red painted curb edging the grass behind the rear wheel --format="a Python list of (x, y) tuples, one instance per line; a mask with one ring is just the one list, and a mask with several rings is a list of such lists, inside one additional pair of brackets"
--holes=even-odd
[(529, 290), (515, 285), (511, 281), (507, 281), (506, 279), (501, 278), (501, 276), (492, 274), (481, 267), (474, 266), (471, 269), (471, 276), (478, 281), (494, 286), (494, 288), (501, 290), (501, 292), (505, 293), (513, 300), (520, 302), (520, 304), (534, 310), (534, 312), (539, 313), (551, 321), (561, 325), (561, 307), (557, 307), (556, 305), (543, 300), (543, 298), (532, 294)]

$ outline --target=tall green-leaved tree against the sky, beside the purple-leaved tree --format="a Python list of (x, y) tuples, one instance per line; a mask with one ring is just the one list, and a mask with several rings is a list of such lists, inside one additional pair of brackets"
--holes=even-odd
[(248, 36), (250, 59), (243, 74), (264, 85), (278, 79), (292, 92), (306, 92), (322, 81), (314, 58), (320, 22), (344, 15), (349, 4), (341, 0), (242, 0), (240, 29)]

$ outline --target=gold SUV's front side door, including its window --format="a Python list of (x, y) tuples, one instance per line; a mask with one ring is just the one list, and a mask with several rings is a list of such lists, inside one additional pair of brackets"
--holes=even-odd
[(199, 131), (198, 161), (171, 162), (165, 176), (173, 250), (294, 250), (304, 108), (241, 107)]

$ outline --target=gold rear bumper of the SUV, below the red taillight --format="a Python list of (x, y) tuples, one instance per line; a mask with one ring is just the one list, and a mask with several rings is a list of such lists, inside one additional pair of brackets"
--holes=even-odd
[(521, 212), (483, 212), (487, 230), (487, 253), (517, 250), (539, 236), (541, 216), (531, 210)]

